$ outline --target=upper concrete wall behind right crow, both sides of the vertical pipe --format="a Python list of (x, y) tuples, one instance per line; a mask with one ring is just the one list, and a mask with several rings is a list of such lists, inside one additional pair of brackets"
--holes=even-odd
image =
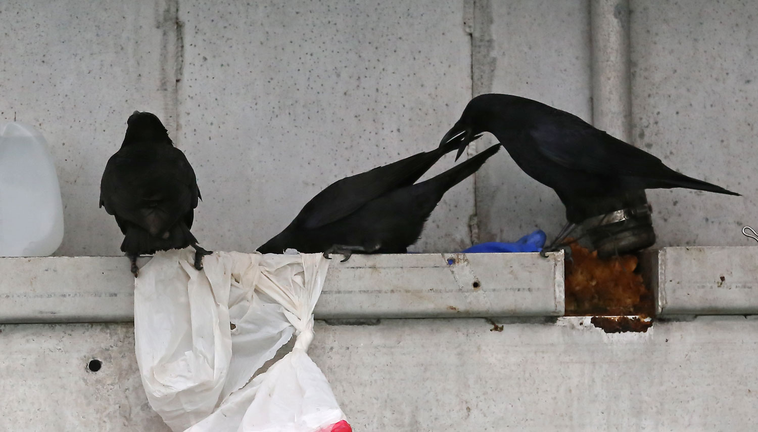
[[(627, 18), (617, 3), (613, 18), (628, 19), (630, 33), (632, 143), (745, 195), (648, 191), (656, 246), (751, 244), (741, 228), (758, 211), (758, 4), (633, 0)], [(590, 2), (475, 4), (475, 94), (515, 93), (593, 120)], [(555, 235), (565, 221), (555, 194), (509, 158), (478, 173), (477, 211), (483, 241), (537, 227)]]

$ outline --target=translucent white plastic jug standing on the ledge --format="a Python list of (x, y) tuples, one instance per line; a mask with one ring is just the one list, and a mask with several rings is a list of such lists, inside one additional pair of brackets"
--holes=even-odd
[(63, 240), (63, 204), (47, 142), (0, 123), (0, 257), (45, 257)]

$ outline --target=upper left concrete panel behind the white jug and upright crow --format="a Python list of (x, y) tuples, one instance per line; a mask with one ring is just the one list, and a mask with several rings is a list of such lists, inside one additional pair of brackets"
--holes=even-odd
[(48, 141), (61, 184), (57, 254), (112, 255), (121, 233), (98, 208), (100, 178), (135, 110), (175, 136), (176, 2), (0, 2), (0, 118)]

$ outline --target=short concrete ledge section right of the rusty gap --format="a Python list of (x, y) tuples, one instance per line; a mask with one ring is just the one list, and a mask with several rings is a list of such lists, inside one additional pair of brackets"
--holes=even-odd
[(643, 254), (657, 314), (758, 314), (758, 247), (662, 248)]

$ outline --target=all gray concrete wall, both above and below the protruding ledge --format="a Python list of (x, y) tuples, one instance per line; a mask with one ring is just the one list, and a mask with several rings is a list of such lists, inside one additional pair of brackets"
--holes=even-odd
[[(629, 3), (634, 144), (746, 195), (650, 191), (658, 246), (752, 245), (740, 230), (758, 210), (758, 5)], [(11, 0), (0, 3), (0, 117), (51, 144), (66, 223), (57, 254), (117, 254), (97, 197), (133, 109), (160, 115), (196, 166), (199, 238), (252, 251), (331, 181), (435, 147), (472, 94), (591, 120), (591, 34), (589, 0)], [(475, 201), (482, 241), (562, 225), (555, 194), (505, 154), (472, 183), (446, 196), (418, 251), (468, 244)], [(579, 320), (502, 333), (468, 319), (318, 323), (312, 355), (356, 430), (755, 429), (755, 317), (616, 335)], [(0, 430), (167, 430), (146, 404), (129, 324), (4, 325), (0, 346), (0, 393), (14, 396)], [(92, 358), (101, 371), (86, 370)]]

